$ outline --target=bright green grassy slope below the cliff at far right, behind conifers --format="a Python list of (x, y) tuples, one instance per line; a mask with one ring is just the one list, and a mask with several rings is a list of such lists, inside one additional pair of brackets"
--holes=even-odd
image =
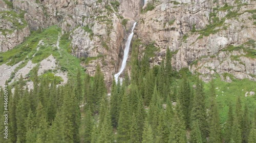
[[(226, 73), (226, 76), (231, 76), (230, 74)], [(231, 78), (230, 77), (230, 78)], [(251, 81), (249, 79), (236, 79), (231, 83), (222, 81), (219, 75), (216, 75), (214, 79), (216, 85), (216, 99), (218, 103), (218, 110), (220, 113), (221, 124), (224, 124), (227, 119), (228, 113), (228, 105), (231, 103), (232, 105), (236, 104), (238, 96), (241, 97), (242, 104), (248, 104), (249, 110), (254, 112), (253, 109), (255, 107), (255, 97), (245, 97), (246, 92), (255, 91), (256, 84), (255, 81)], [(209, 108), (210, 105), (210, 83), (204, 84), (204, 92), (206, 95), (207, 107)], [(222, 93), (223, 92), (223, 93)]]

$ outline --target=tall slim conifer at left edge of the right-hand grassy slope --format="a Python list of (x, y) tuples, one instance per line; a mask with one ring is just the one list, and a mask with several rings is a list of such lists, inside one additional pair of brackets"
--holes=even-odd
[(210, 110), (209, 110), (209, 142), (211, 143), (221, 143), (221, 126), (220, 126), (220, 117), (217, 108), (216, 102), (216, 93), (214, 81), (211, 81), (210, 88)]

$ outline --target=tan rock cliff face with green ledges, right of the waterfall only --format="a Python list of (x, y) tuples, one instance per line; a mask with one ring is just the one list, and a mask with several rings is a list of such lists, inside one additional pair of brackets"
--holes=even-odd
[(140, 15), (138, 37), (144, 43), (155, 41), (159, 53), (170, 48), (175, 69), (188, 67), (205, 81), (216, 73), (256, 80), (256, 57), (251, 54), (256, 49), (255, 20), (250, 18), (255, 1), (217, 2), (160, 1)]

